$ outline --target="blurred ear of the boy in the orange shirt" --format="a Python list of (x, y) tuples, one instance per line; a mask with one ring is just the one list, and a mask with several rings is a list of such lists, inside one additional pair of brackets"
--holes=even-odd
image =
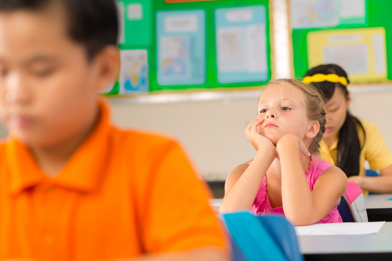
[(96, 91), (104, 92), (109, 85), (114, 85), (120, 67), (120, 51), (116, 46), (107, 46), (94, 58), (96, 66)]

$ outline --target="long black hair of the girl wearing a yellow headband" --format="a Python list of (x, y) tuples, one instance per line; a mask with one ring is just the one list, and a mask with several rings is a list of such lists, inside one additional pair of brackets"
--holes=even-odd
[[(305, 76), (313, 76), (315, 74), (336, 74), (343, 76), (347, 79), (347, 83), (350, 83), (347, 77), (347, 73), (343, 68), (336, 64), (319, 65), (310, 69)], [(347, 98), (348, 90), (347, 86), (341, 83), (331, 83), (329, 81), (323, 81), (320, 83), (314, 83), (319, 88), (320, 92), (325, 95), (325, 98), (329, 100), (334, 95), (336, 87), (339, 87), (345, 97)], [(339, 131), (339, 140), (337, 147), (337, 166), (346, 173), (347, 177), (355, 176), (359, 173), (359, 155), (363, 148), (363, 144), (359, 141), (358, 127), (362, 129), (363, 135), (366, 138), (365, 129), (361, 122), (350, 114), (347, 110), (346, 120), (343, 123)], [(365, 143), (365, 140), (364, 140)]]

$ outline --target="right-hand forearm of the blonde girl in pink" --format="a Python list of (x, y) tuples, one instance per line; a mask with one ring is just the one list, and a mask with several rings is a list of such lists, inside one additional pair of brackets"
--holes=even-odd
[(288, 144), (281, 151), (283, 211), (295, 225), (310, 225), (318, 220), (312, 218), (315, 204), (303, 171), (298, 144)]

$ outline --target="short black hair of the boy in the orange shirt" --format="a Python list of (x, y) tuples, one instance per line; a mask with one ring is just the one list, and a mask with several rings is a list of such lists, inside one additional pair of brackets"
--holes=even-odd
[(85, 46), (89, 60), (105, 46), (117, 44), (118, 20), (114, 0), (0, 0), (0, 12), (39, 11), (54, 2), (64, 6), (68, 34)]

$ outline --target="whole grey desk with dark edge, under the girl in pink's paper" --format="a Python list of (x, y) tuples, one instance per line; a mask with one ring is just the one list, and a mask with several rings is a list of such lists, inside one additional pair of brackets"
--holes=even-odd
[(392, 222), (378, 234), (359, 236), (298, 236), (305, 260), (392, 260)]

